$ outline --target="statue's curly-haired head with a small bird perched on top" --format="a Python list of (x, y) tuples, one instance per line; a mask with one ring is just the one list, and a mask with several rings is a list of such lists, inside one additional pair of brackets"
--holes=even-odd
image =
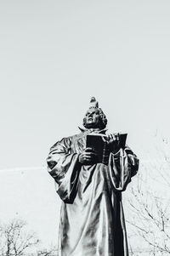
[(99, 128), (104, 129), (107, 124), (107, 118), (104, 112), (99, 108), (98, 102), (94, 97), (90, 100), (90, 106), (83, 118), (83, 126), (85, 128)]

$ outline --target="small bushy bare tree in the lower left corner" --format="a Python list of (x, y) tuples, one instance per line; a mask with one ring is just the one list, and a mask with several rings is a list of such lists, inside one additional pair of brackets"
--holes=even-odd
[(27, 248), (36, 246), (39, 240), (36, 235), (26, 232), (26, 222), (13, 219), (0, 227), (0, 254), (2, 256), (21, 256)]

